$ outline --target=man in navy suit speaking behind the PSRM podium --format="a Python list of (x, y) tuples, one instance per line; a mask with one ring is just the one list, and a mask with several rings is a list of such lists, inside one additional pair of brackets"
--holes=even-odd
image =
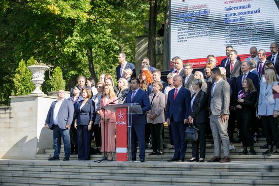
[(131, 92), (127, 94), (125, 103), (138, 103), (141, 105), (143, 114), (133, 115), (132, 127), (131, 127), (131, 147), (132, 147), (132, 160), (136, 160), (136, 146), (137, 140), (140, 146), (140, 161), (145, 162), (145, 127), (146, 127), (146, 112), (151, 109), (150, 100), (148, 94), (140, 89), (140, 80), (132, 78), (131, 80)]

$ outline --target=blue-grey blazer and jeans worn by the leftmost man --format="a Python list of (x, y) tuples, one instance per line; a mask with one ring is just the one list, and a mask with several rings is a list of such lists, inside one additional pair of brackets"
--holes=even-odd
[(58, 125), (55, 125), (53, 122), (54, 108), (57, 101), (52, 102), (47, 119), (46, 124), (49, 124), (49, 128), (53, 131), (53, 146), (54, 146), (54, 158), (59, 159), (60, 148), (61, 148), (61, 137), (64, 142), (64, 152), (65, 158), (69, 158), (71, 151), (71, 143), (69, 136), (69, 128), (66, 129), (66, 125), (71, 126), (73, 117), (74, 117), (74, 105), (72, 101), (64, 99), (61, 103), (57, 114)]

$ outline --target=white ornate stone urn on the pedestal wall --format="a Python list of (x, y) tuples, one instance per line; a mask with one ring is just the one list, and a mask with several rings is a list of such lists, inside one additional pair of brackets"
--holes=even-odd
[(50, 67), (46, 65), (31, 65), (28, 66), (28, 69), (32, 72), (31, 82), (34, 84), (36, 89), (31, 94), (44, 94), (43, 91), (40, 90), (40, 87), (45, 81), (45, 71)]

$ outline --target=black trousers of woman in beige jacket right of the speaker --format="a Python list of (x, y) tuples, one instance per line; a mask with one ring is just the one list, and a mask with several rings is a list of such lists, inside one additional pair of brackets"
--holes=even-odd
[(153, 152), (163, 151), (163, 123), (150, 124)]

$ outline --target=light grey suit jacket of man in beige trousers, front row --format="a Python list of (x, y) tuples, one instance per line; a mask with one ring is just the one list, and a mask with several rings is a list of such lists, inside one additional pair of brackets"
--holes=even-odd
[(214, 92), (212, 94), (212, 91), (210, 92), (210, 99), (209, 99), (209, 105), (211, 114), (215, 116), (220, 116), (221, 114), (229, 115), (229, 104), (230, 104), (230, 85), (225, 80), (221, 79), (214, 89)]

